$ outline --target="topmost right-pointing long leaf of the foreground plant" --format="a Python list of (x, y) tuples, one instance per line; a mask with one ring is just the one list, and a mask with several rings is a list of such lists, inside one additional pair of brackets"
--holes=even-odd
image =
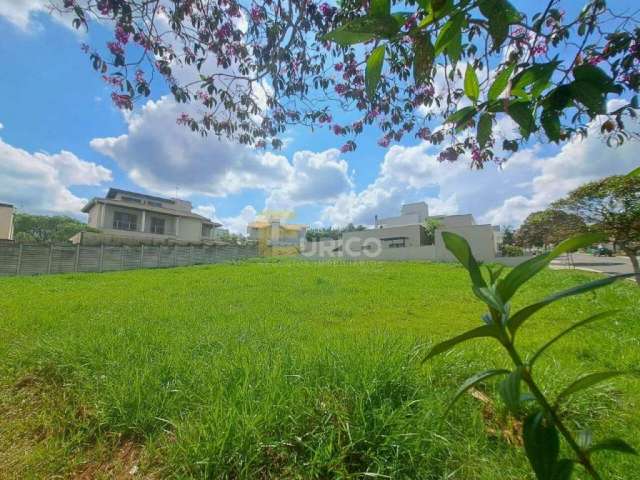
[(511, 270), (507, 276), (500, 282), (498, 293), (502, 301), (507, 303), (518, 289), (530, 278), (544, 269), (553, 259), (566, 252), (575, 251), (582, 247), (587, 247), (593, 243), (605, 239), (605, 235), (601, 233), (591, 232), (576, 235), (559, 243), (551, 252), (538, 255), (526, 262), (521, 263)]

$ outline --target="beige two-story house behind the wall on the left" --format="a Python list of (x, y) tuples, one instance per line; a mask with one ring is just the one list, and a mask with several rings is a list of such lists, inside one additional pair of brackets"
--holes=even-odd
[[(82, 211), (88, 225), (105, 237), (150, 242), (213, 242), (222, 224), (193, 213), (191, 202), (110, 188)], [(76, 240), (77, 241), (77, 240)]]

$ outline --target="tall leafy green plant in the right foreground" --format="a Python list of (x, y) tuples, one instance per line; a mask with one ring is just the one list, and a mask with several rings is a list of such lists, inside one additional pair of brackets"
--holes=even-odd
[[(523, 403), (526, 401), (534, 401), (536, 404), (536, 407), (526, 415), (522, 436), (529, 463), (539, 480), (567, 480), (571, 478), (576, 463), (581, 464), (592, 478), (600, 479), (601, 477), (591, 461), (592, 453), (600, 450), (614, 450), (636, 454), (633, 447), (618, 438), (609, 438), (593, 443), (589, 431), (578, 432), (578, 434), (574, 435), (565, 425), (559, 413), (559, 407), (572, 394), (612, 377), (630, 372), (607, 370), (585, 375), (562, 390), (555, 402), (547, 398), (533, 377), (533, 368), (536, 361), (556, 341), (579, 327), (610, 316), (615, 311), (596, 313), (573, 324), (545, 343), (526, 360), (523, 359), (515, 346), (518, 329), (541, 308), (556, 300), (595, 290), (609, 285), (621, 277), (628, 276), (619, 275), (594, 280), (555, 293), (539, 302), (527, 305), (515, 313), (510, 311), (510, 301), (522, 285), (549, 265), (554, 258), (562, 253), (590, 245), (598, 241), (600, 235), (588, 233), (572, 237), (560, 243), (551, 252), (522, 263), (511, 270), (504, 278), (501, 278), (501, 268), (486, 267), (488, 281), (484, 278), (480, 264), (473, 257), (471, 248), (464, 238), (451, 232), (443, 232), (442, 237), (447, 249), (453, 253), (469, 272), (473, 284), (473, 293), (487, 305), (489, 311), (482, 316), (483, 325), (435, 345), (427, 354), (425, 361), (450, 350), (466, 340), (490, 337), (500, 342), (514, 364), (514, 368), (511, 371), (507, 369), (491, 369), (476, 373), (468, 378), (454, 395), (449, 408), (460, 396), (478, 383), (491, 377), (505, 376), (499, 385), (498, 391), (505, 405), (512, 413), (519, 415), (521, 410), (524, 410)], [(528, 391), (524, 391), (525, 389), (528, 389)], [(568, 446), (573, 450), (575, 458), (560, 458), (560, 436), (565, 439)]]

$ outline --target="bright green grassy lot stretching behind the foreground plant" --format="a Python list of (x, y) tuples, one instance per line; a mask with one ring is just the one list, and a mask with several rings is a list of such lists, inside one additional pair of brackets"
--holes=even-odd
[[(545, 271), (516, 306), (594, 276)], [(638, 367), (640, 289), (619, 282), (523, 327), (531, 351), (611, 308), (621, 312), (539, 363), (547, 391)], [(466, 395), (442, 417), (457, 385), (508, 365), (504, 354), (483, 340), (420, 362), (481, 313), (466, 272), (443, 264), (248, 261), (0, 279), (0, 477), (532, 478), (499, 400)], [(495, 398), (493, 383), (484, 390)], [(639, 409), (640, 381), (621, 378), (567, 412), (574, 429), (640, 447)], [(605, 478), (639, 478), (637, 457), (594, 459)]]

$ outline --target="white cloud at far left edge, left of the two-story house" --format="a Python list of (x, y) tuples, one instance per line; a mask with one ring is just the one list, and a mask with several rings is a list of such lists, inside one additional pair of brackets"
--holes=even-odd
[(0, 139), (0, 199), (39, 213), (78, 215), (86, 199), (71, 186), (95, 186), (111, 180), (111, 171), (66, 150), (30, 153)]

